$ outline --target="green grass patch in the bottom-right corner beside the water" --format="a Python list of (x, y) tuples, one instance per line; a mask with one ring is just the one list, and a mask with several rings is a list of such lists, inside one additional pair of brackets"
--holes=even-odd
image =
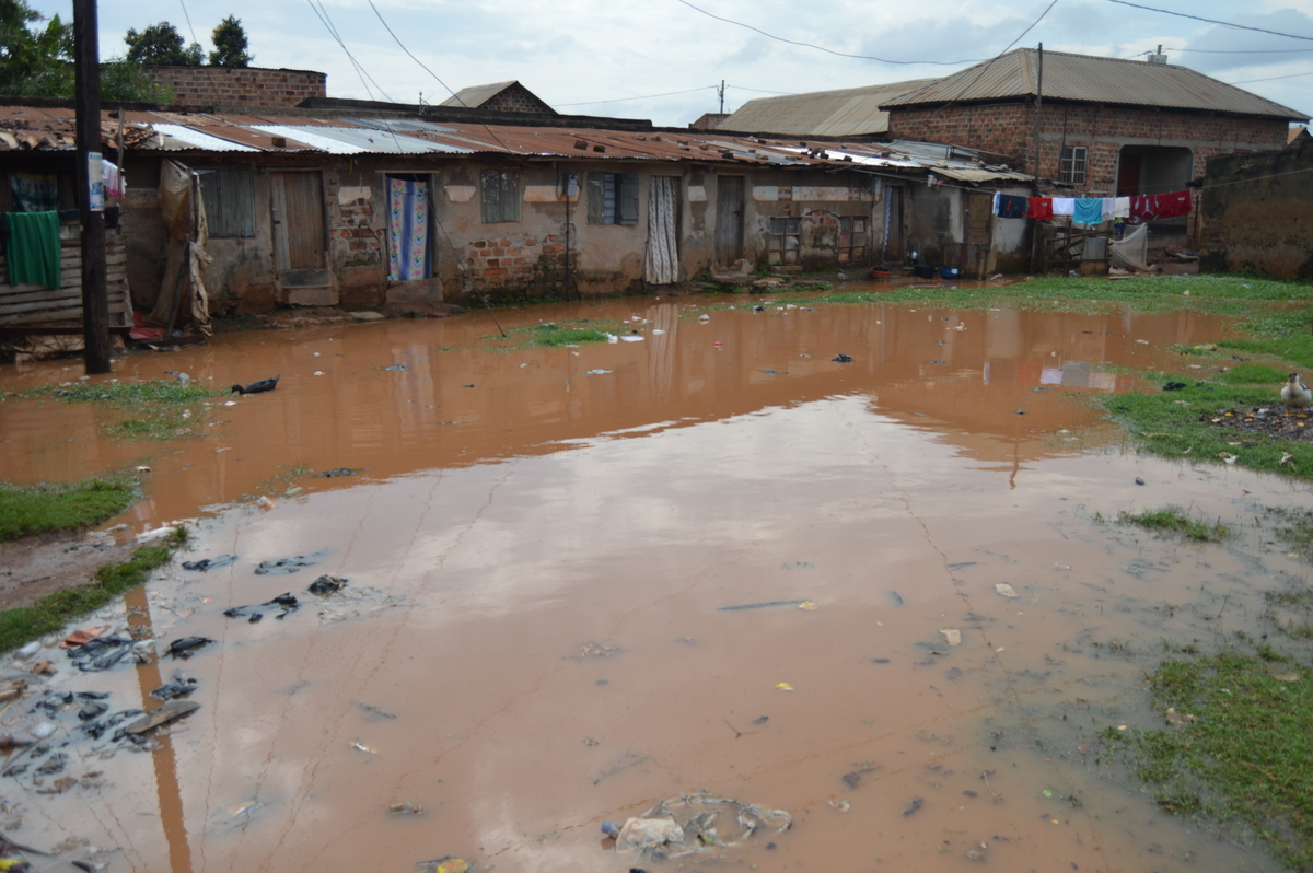
[(1154, 799), (1237, 826), (1289, 868), (1313, 869), (1313, 666), (1268, 647), (1226, 651), (1167, 660), (1150, 685), (1171, 726), (1125, 742)]

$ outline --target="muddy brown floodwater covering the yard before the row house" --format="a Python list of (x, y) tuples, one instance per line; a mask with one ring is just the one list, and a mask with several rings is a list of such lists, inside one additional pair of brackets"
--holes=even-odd
[[(742, 297), (699, 322), (710, 302), (499, 314), (634, 318), (643, 337), (576, 349), (490, 351), (475, 312), (117, 361), (121, 379), (282, 377), (175, 442), (105, 440), (93, 407), (5, 403), (0, 478), (148, 458), (123, 520), (200, 517), (186, 557), (239, 559), (101, 613), (160, 649), (217, 641), (189, 660), (56, 658), (53, 688), (108, 692), (112, 710), (152, 709), (180, 668), (201, 709), (147, 752), (63, 715), (81, 782), (0, 780), (0, 824), (173, 873), (448, 856), (487, 873), (1275, 869), (1078, 748), (1158, 723), (1133, 652), (1250, 630), (1264, 587), (1306, 578), (1253, 525), (1259, 499), (1297, 505), (1304, 486), (1138, 457), (1087, 404), (1129, 387), (1103, 365), (1149, 366), (1221, 326)], [(315, 475), (341, 467), (361, 471)], [(1242, 534), (1184, 546), (1096, 515), (1167, 503)], [(295, 555), (312, 566), (256, 572)], [(347, 588), (306, 593), (322, 574)], [(223, 614), (282, 592), (301, 609)], [(26, 709), (0, 730), (30, 729)], [(697, 789), (793, 827), (674, 861), (600, 831)]]

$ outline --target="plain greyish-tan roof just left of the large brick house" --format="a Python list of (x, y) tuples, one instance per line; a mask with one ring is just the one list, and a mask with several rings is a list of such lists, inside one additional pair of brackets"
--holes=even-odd
[(888, 85), (815, 91), (750, 100), (722, 121), (721, 130), (789, 137), (864, 137), (889, 130), (889, 113), (880, 104), (923, 88), (937, 79), (914, 79)]

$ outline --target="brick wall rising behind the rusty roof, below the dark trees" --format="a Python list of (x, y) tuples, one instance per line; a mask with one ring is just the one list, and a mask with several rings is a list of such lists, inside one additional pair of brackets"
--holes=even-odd
[(185, 106), (295, 106), (328, 96), (328, 74), (263, 67), (146, 67)]

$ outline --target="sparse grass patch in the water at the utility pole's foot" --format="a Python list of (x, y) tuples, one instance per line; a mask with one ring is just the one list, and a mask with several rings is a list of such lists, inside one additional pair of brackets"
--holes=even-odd
[(180, 385), (175, 379), (152, 379), (42, 385), (0, 394), (0, 400), (50, 398), (62, 403), (95, 403), (110, 411), (101, 428), (113, 437), (169, 440), (192, 433), (194, 417), (202, 411), (201, 402), (221, 394), (197, 385)]

